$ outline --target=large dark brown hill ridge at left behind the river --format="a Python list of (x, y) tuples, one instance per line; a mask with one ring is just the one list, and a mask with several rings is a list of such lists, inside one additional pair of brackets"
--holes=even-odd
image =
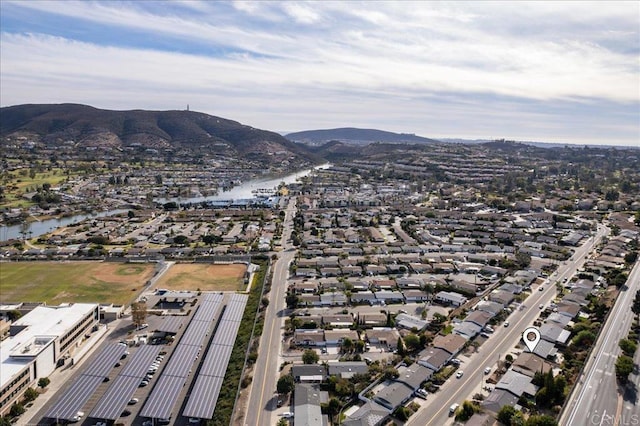
[[(275, 132), (189, 110), (114, 111), (81, 104), (26, 104), (0, 109), (3, 140), (55, 146), (189, 150), (236, 158), (282, 161), (315, 159), (303, 146)], [(317, 159), (316, 159), (317, 160)]]

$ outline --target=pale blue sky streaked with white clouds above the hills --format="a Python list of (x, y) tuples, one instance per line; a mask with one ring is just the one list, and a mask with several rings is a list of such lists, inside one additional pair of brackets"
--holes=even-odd
[(640, 2), (0, 1), (0, 105), (640, 146)]

